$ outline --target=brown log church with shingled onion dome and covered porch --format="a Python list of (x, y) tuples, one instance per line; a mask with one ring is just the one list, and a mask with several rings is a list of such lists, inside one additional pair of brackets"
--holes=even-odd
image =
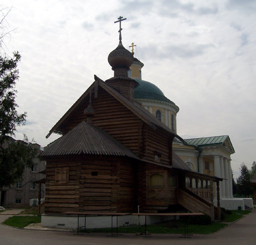
[[(63, 212), (204, 212), (222, 179), (192, 172), (172, 151), (179, 137), (135, 101), (134, 61), (121, 42), (108, 56), (114, 77), (92, 85), (50, 130), (62, 135), (42, 154), (46, 164), (45, 214)], [(188, 188), (195, 181), (197, 188)], [(216, 182), (214, 189), (213, 182)]]

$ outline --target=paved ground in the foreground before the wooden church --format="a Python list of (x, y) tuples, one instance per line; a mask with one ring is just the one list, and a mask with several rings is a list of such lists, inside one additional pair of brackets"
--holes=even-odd
[(105, 234), (74, 235), (64, 231), (34, 231), (0, 224), (0, 245), (245, 245), (256, 244), (256, 210), (227, 228), (210, 235), (194, 235), (179, 238), (173, 234), (153, 234), (152, 237), (136, 237), (124, 234), (106, 237)]

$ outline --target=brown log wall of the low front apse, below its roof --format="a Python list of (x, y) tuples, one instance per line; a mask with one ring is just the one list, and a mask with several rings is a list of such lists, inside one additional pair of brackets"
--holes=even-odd
[[(123, 157), (77, 157), (47, 161), (45, 213), (134, 212), (136, 162)], [(75, 157), (73, 157), (74, 159)], [(55, 168), (69, 167), (69, 183), (55, 182)]]

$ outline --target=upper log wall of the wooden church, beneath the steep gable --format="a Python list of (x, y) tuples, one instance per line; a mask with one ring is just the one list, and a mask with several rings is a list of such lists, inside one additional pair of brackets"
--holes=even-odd
[[(86, 101), (83, 106), (73, 112), (69, 122), (63, 129), (69, 132), (82, 120), (86, 121), (85, 108), (89, 105)], [(133, 112), (113, 98), (107, 91), (99, 88), (98, 97), (92, 96), (92, 107), (96, 115), (92, 124), (102, 128), (122, 145), (135, 154), (143, 155), (149, 161), (155, 161), (156, 152), (161, 154), (161, 163), (171, 165), (172, 136), (163, 129), (156, 130), (146, 125)]]

